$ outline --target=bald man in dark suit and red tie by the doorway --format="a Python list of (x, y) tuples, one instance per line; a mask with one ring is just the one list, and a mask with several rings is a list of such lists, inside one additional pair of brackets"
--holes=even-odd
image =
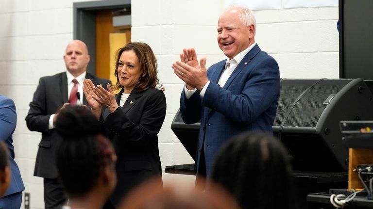
[(54, 124), (61, 108), (67, 105), (87, 105), (83, 94), (83, 79), (96, 85), (107, 86), (109, 80), (86, 72), (90, 57), (88, 48), (80, 40), (71, 41), (64, 55), (66, 72), (42, 77), (30, 102), (26, 116), (27, 127), (42, 133), (37, 151), (34, 176), (44, 178), (44, 203), (46, 209), (55, 209), (66, 202), (64, 188), (58, 181), (55, 152), (61, 137)]

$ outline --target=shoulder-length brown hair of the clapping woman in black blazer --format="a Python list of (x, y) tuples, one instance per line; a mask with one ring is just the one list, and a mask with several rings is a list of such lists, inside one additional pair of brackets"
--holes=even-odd
[(135, 86), (134, 86), (134, 91), (135, 92), (144, 92), (145, 90), (149, 88), (155, 88), (159, 87), (161, 91), (164, 91), (165, 89), (161, 84), (159, 84), (159, 79), (158, 79), (158, 64), (157, 64), (157, 59), (155, 58), (155, 55), (153, 53), (152, 48), (142, 42), (130, 42), (127, 43), (126, 46), (119, 48), (116, 52), (115, 55), (115, 71), (114, 75), (117, 77), (117, 83), (116, 85), (113, 86), (114, 89), (120, 89), (123, 86), (120, 85), (119, 83), (119, 78), (118, 78), (118, 67), (119, 67), (119, 58), (120, 55), (122, 55), (123, 51), (134, 51), (138, 61), (140, 63), (140, 70), (142, 75), (140, 76), (139, 79), (137, 80)]

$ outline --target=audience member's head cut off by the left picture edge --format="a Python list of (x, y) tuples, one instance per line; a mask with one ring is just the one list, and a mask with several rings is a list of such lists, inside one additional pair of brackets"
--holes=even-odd
[(9, 187), (10, 176), (8, 147), (0, 141), (0, 197)]

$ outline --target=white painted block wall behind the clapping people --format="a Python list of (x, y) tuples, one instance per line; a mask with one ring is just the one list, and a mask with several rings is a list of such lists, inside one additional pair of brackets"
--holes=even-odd
[[(31, 193), (31, 208), (42, 209), (42, 178), (34, 177), (41, 134), (27, 129), (25, 116), (38, 80), (65, 70), (62, 60), (72, 39), (72, 2), (85, 0), (0, 0), (0, 94), (14, 99), (16, 161)], [(167, 114), (159, 133), (162, 170), (192, 163), (170, 126), (183, 83), (171, 69), (183, 48), (195, 48), (207, 66), (224, 59), (216, 41), (224, 0), (133, 0), (132, 41), (148, 43), (156, 54), (166, 88)], [(282, 78), (338, 78), (338, 7), (254, 11), (256, 42), (273, 56)], [(194, 184), (194, 177), (163, 173), (165, 183)], [(23, 206), (23, 205), (22, 205)]]

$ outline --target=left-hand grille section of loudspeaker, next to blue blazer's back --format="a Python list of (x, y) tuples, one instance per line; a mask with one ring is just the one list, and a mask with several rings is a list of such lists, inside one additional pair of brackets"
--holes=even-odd
[(301, 95), (309, 86), (318, 80), (292, 80), (286, 79), (280, 82), (281, 96), (278, 100), (277, 113), (273, 126), (280, 126), (285, 115), (288, 113), (295, 99)]

